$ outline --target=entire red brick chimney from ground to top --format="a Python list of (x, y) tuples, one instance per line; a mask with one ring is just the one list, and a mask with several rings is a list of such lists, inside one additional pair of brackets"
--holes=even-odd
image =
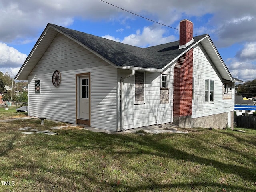
[[(193, 23), (180, 21), (180, 49), (193, 43)], [(193, 49), (183, 54), (174, 66), (173, 122), (182, 128), (191, 127), (193, 97)]]

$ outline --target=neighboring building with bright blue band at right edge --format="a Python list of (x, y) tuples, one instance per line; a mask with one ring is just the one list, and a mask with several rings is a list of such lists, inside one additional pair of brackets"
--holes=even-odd
[(250, 98), (243, 96), (235, 96), (235, 108), (236, 115), (242, 115), (243, 113), (252, 114), (256, 111), (256, 104)]

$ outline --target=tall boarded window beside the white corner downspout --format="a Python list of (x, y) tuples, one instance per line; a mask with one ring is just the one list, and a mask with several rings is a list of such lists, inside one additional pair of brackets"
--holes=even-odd
[(136, 71), (135, 72), (135, 99), (134, 104), (144, 104), (144, 72)]

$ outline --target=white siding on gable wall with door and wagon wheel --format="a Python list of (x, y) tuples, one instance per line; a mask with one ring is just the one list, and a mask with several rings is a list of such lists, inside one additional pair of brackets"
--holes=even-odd
[[(55, 70), (62, 77), (58, 87), (52, 85)], [(91, 77), (91, 126), (116, 131), (116, 68), (61, 34), (28, 77), (29, 115), (75, 123), (76, 74), (80, 73), (90, 73)], [(35, 80), (41, 82), (40, 94), (35, 94)]]

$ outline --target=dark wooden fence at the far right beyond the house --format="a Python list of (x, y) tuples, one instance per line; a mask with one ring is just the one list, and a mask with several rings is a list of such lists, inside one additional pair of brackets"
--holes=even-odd
[(240, 128), (256, 129), (256, 116), (234, 115), (234, 122)]

